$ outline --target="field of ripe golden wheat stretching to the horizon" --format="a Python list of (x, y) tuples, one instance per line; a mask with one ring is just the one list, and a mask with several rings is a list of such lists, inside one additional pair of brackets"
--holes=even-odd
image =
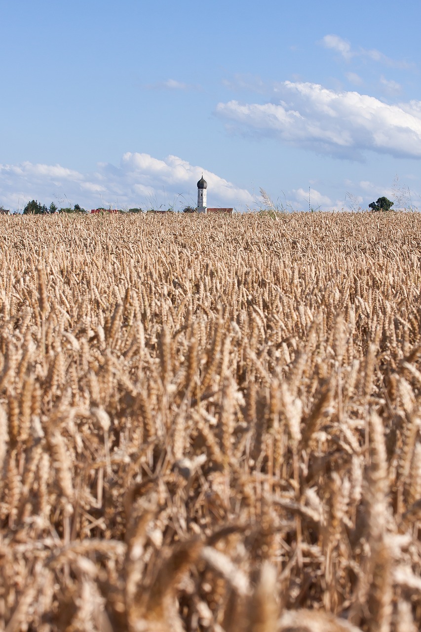
[(420, 628), (418, 214), (0, 244), (0, 629)]

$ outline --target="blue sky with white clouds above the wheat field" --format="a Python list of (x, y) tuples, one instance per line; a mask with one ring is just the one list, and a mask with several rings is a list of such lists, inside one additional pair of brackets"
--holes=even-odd
[(421, 210), (418, 0), (0, 0), (0, 23), (6, 208), (179, 208), (203, 171), (209, 206)]

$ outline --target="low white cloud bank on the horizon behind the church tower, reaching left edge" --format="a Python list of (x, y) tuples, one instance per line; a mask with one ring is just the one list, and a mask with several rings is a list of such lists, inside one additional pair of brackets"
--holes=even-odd
[(92, 173), (80, 173), (60, 165), (0, 164), (0, 204), (23, 209), (32, 198), (43, 204), (80, 204), (86, 209), (101, 206), (142, 207), (178, 210), (197, 204), (196, 183), (202, 171), (208, 183), (210, 206), (244, 208), (252, 195), (203, 167), (178, 156), (164, 160), (149, 154), (127, 152), (119, 166), (99, 163)]

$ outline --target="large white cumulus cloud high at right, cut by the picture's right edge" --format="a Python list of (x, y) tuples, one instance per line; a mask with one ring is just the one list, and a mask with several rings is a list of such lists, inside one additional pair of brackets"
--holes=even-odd
[[(230, 130), (276, 137), (324, 154), (361, 160), (364, 150), (421, 157), (421, 103), (388, 105), (358, 92), (283, 82), (278, 103), (219, 103)], [(287, 102), (288, 100), (288, 102)]]

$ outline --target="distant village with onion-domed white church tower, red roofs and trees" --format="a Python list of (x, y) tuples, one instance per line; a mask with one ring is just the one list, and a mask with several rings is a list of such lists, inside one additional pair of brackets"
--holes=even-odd
[[(232, 214), (234, 209), (227, 207), (216, 207), (216, 208), (208, 208), (207, 207), (207, 181), (203, 177), (197, 183), (197, 207), (186, 206), (181, 209), (181, 212), (184, 213), (226, 213)], [(0, 214), (3, 215), (56, 215), (59, 213), (85, 213), (85, 214), (97, 214), (97, 213), (173, 213), (174, 209), (150, 209), (144, 211), (140, 208), (133, 209), (112, 209), (109, 207), (108, 209), (104, 207), (100, 207), (99, 209), (90, 209), (85, 210), (80, 205), (75, 204), (73, 207), (66, 207), (64, 209), (58, 209), (56, 205), (52, 202), (50, 206), (47, 208), (45, 204), (40, 204), (37, 200), (31, 200), (23, 209), (23, 213), (19, 211), (11, 212), (10, 209), (4, 209), (3, 206), (0, 206)]]

